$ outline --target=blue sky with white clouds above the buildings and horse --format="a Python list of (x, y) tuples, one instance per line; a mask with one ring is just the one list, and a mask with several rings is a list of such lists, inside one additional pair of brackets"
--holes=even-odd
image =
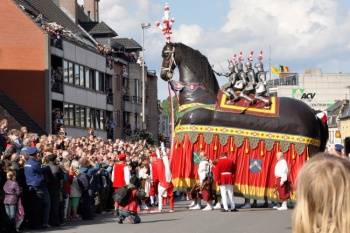
[[(284, 65), (290, 72), (321, 68), (323, 73), (350, 73), (349, 0), (100, 1), (100, 21), (119, 38), (142, 45), (141, 23), (151, 23), (144, 31), (145, 62), (158, 77), (166, 40), (155, 24), (164, 17), (165, 3), (175, 18), (171, 41), (199, 50), (216, 71), (228, 71), (233, 54), (243, 52), (246, 61), (254, 51), (255, 63), (263, 51), (265, 70)], [(227, 78), (218, 81), (223, 84)], [(159, 77), (158, 99), (167, 96), (167, 84)]]

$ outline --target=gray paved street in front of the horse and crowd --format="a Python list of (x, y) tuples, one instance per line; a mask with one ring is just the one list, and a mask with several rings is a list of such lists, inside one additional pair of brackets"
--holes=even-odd
[[(235, 197), (237, 204), (243, 198)], [(91, 221), (69, 221), (60, 227), (52, 227), (41, 231), (23, 232), (69, 232), (69, 233), (147, 233), (147, 232), (259, 232), (290, 233), (292, 209), (278, 211), (272, 208), (239, 209), (239, 212), (220, 212), (220, 210), (189, 210), (190, 201), (175, 201), (175, 212), (169, 213), (166, 205), (162, 213), (140, 214), (141, 223), (131, 224), (125, 219), (118, 224), (112, 213), (99, 214)], [(204, 207), (205, 203), (202, 203)]]

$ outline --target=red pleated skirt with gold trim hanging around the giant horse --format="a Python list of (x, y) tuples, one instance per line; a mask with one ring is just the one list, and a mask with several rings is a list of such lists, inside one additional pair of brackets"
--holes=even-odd
[[(186, 134), (183, 141), (174, 143), (174, 154), (171, 161), (171, 169), (174, 185), (179, 190), (191, 188), (198, 180), (198, 165), (193, 162), (193, 153), (205, 151), (210, 160), (215, 160), (221, 152), (228, 152), (229, 158), (235, 161), (235, 193), (244, 196), (254, 197), (270, 197), (274, 196), (274, 184), (276, 177), (274, 168), (277, 162), (276, 154), (280, 150), (280, 145), (276, 142), (270, 151), (265, 148), (264, 140), (260, 140), (258, 146), (252, 149), (249, 145), (249, 140), (245, 139), (243, 145), (237, 147), (233, 143), (232, 136), (229, 137), (225, 146), (219, 142), (218, 135), (215, 135), (210, 144), (206, 144), (203, 140), (203, 135), (198, 136), (195, 143), (189, 141)], [(307, 147), (301, 155), (297, 155), (294, 149), (294, 144), (290, 144), (289, 149), (285, 154), (288, 166), (290, 168), (289, 179), (292, 186), (295, 188), (295, 180), (299, 169), (307, 160)], [(261, 170), (252, 172), (249, 167), (251, 159), (261, 162)]]

